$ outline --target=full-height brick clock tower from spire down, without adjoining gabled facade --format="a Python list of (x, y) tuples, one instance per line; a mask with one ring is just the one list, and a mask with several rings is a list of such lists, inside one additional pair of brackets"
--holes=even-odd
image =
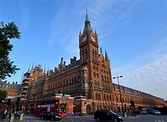
[(80, 69), (81, 69), (81, 84), (82, 95), (86, 98), (94, 98), (93, 81), (98, 72), (98, 37), (96, 32), (91, 28), (88, 14), (86, 12), (85, 25), (83, 32), (79, 33), (79, 48), (80, 48)]

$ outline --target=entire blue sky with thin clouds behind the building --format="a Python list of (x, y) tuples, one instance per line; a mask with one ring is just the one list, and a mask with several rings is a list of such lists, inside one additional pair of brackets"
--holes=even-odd
[(67, 64), (79, 59), (87, 9), (112, 75), (123, 75), (121, 85), (167, 99), (166, 6), (166, 0), (0, 0), (0, 21), (15, 22), (21, 32), (10, 53), (20, 70), (7, 80), (20, 83), (33, 63), (54, 69), (61, 57)]

